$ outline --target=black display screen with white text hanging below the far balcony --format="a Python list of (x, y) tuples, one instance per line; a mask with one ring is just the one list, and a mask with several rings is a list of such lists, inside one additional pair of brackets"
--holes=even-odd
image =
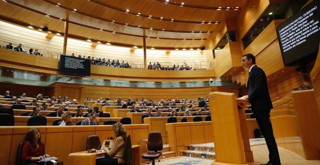
[(71, 56), (60, 55), (60, 73), (77, 76), (90, 76), (91, 61)]

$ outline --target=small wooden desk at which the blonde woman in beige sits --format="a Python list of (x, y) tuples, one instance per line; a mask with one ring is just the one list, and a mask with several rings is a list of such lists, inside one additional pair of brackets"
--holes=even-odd
[[(140, 165), (140, 147), (139, 145), (132, 146), (132, 165)], [(67, 165), (96, 165), (96, 156), (105, 154), (105, 151), (87, 153), (87, 151), (70, 153), (68, 155)]]

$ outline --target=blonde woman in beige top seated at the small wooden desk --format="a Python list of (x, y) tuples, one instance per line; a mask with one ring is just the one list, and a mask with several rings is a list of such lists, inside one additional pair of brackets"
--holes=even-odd
[(123, 160), (127, 139), (126, 129), (120, 122), (117, 122), (112, 125), (112, 131), (116, 137), (115, 141), (111, 148), (103, 148), (107, 157), (97, 159), (96, 165), (120, 165), (126, 163)]

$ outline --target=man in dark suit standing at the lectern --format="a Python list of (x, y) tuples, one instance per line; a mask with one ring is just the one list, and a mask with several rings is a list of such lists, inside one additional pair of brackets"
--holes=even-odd
[(269, 149), (269, 162), (265, 165), (281, 165), (272, 126), (269, 122), (270, 110), (273, 107), (268, 91), (266, 74), (256, 66), (256, 58), (250, 53), (242, 56), (241, 64), (243, 68), (249, 69), (248, 95), (243, 96), (241, 99), (248, 99), (251, 103), (252, 112), (256, 115), (256, 122), (266, 139)]

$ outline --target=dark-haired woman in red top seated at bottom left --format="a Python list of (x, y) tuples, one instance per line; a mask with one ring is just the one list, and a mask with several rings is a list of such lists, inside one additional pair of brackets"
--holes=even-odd
[(23, 165), (41, 165), (38, 163), (43, 158), (50, 157), (45, 152), (45, 144), (41, 142), (40, 130), (37, 128), (30, 129), (24, 139), (26, 142), (22, 148)]

